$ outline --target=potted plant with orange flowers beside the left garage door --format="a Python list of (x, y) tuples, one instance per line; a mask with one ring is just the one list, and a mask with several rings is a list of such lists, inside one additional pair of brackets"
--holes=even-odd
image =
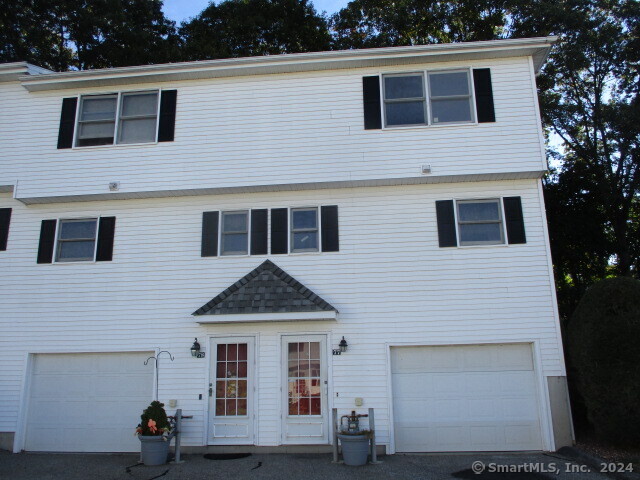
[(151, 402), (140, 416), (136, 434), (140, 439), (142, 463), (145, 465), (164, 465), (169, 456), (169, 433), (171, 424), (164, 410), (164, 404)]

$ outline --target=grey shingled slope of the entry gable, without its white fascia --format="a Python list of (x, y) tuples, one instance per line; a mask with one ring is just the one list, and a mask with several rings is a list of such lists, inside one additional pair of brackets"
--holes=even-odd
[(337, 310), (270, 260), (192, 315), (328, 312)]

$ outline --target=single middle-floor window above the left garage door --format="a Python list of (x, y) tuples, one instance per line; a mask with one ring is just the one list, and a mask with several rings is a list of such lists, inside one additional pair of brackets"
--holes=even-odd
[(57, 262), (93, 261), (97, 219), (61, 220), (58, 229)]

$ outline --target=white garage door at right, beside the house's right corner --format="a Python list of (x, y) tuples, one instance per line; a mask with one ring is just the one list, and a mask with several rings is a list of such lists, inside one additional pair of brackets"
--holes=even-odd
[(396, 451), (542, 450), (531, 345), (393, 347)]

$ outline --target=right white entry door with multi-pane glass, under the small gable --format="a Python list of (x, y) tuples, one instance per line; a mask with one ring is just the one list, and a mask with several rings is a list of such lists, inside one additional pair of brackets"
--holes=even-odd
[(327, 444), (327, 337), (283, 336), (283, 444)]

